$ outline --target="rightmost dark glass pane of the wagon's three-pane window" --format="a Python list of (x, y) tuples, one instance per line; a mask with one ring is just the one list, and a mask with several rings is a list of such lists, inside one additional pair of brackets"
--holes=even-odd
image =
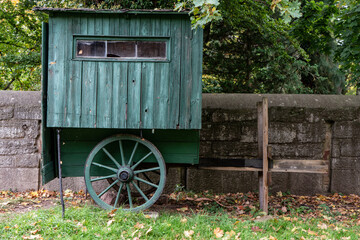
[(138, 42), (137, 56), (140, 58), (166, 58), (166, 43)]

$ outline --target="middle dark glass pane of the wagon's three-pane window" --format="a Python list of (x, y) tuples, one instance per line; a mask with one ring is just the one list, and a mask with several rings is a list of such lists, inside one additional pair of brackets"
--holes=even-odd
[(136, 57), (135, 41), (108, 41), (107, 57)]

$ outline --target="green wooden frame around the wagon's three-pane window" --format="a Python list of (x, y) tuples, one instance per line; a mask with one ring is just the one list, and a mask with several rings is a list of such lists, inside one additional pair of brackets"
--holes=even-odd
[[(137, 58), (137, 57), (79, 57), (77, 53), (77, 41), (149, 41), (165, 42), (165, 58)], [(72, 60), (74, 61), (96, 61), (96, 62), (170, 62), (170, 37), (167, 36), (95, 36), (95, 35), (73, 35)]]

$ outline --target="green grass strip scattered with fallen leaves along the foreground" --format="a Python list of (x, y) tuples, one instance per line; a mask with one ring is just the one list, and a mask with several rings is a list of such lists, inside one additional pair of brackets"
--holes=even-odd
[(107, 212), (94, 206), (61, 208), (23, 214), (6, 213), (0, 219), (2, 239), (359, 239), (359, 221), (329, 221), (276, 216), (234, 217), (209, 212), (164, 212), (154, 219), (146, 213)]

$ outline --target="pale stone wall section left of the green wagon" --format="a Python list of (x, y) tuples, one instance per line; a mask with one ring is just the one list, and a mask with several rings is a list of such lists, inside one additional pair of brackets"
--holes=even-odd
[(38, 189), (40, 92), (0, 91), (0, 189)]

